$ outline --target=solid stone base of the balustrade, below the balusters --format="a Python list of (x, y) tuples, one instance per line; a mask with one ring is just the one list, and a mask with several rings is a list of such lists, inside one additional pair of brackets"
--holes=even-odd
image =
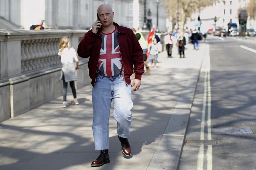
[[(60, 75), (61, 67), (55, 67), (52, 70), (45, 70), (43, 73), (27, 73), (0, 82), (0, 122), (28, 112), (61, 96)], [(80, 62), (76, 83), (77, 89), (91, 83), (87, 61)], [(69, 85), (68, 92), (71, 92)]]

